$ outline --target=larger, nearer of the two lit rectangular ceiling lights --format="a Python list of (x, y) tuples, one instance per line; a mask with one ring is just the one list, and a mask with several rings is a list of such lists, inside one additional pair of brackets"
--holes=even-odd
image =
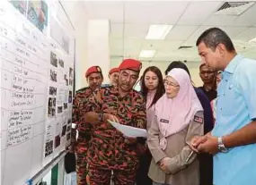
[(155, 24), (150, 25), (146, 39), (159, 39), (163, 40), (166, 35), (169, 33), (169, 31), (172, 29), (172, 25), (167, 24)]

